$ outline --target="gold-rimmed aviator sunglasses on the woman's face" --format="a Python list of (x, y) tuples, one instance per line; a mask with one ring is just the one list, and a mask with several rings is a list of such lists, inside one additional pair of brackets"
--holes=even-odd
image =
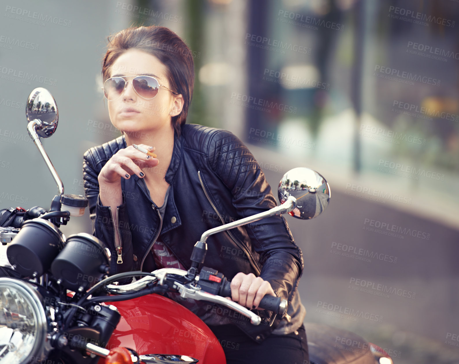
[(116, 100), (126, 89), (128, 81), (125, 80), (127, 77), (134, 77), (132, 80), (132, 86), (134, 91), (140, 97), (151, 100), (158, 94), (159, 86), (164, 87), (166, 90), (171, 91), (174, 95), (178, 95), (177, 92), (168, 89), (166, 86), (160, 85), (158, 80), (152, 76), (123, 76), (123, 77), (111, 77), (104, 82), (102, 90), (108, 101)]

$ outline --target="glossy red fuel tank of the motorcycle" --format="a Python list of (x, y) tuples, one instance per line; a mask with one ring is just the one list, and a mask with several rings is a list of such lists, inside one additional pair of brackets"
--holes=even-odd
[[(223, 348), (213, 332), (187, 308), (152, 294), (128, 301), (108, 302), (121, 313), (107, 349), (128, 347), (139, 355), (177, 354), (200, 364), (226, 364)], [(103, 363), (101, 359), (99, 363)]]

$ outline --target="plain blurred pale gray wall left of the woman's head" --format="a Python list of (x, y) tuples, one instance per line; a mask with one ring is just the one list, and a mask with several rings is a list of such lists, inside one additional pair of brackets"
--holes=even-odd
[[(58, 128), (52, 137), (42, 139), (42, 143), (64, 183), (65, 193), (84, 194), (84, 152), (118, 136), (110, 124), (100, 91), (106, 37), (129, 26), (131, 20), (115, 11), (115, 1), (2, 1), (0, 159), (5, 162), (0, 163), (4, 166), (0, 168), (2, 208), (20, 205), (27, 209), (39, 205), (49, 209), (57, 193), (56, 184), (26, 130), (24, 105), (35, 87), (47, 88), (58, 106)], [(8, 75), (13, 80), (6, 79)], [(10, 104), (13, 106), (6, 106)], [(65, 234), (89, 229), (88, 210), (84, 217), (73, 217), (62, 227)]]

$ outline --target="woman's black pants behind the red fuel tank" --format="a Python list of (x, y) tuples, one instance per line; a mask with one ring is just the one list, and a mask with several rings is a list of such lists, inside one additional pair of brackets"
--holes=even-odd
[(257, 343), (235, 325), (209, 326), (223, 347), (227, 364), (309, 364), (304, 325), (287, 335), (269, 335)]

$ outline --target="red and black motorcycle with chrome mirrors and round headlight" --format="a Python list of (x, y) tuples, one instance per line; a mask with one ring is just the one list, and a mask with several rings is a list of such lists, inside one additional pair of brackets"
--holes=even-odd
[[(109, 276), (112, 257), (104, 242), (88, 233), (66, 238), (59, 229), (70, 216), (83, 216), (88, 202), (84, 196), (64, 194), (40, 141), (57, 128), (54, 97), (44, 88), (34, 89), (26, 114), (28, 134), (58, 194), (49, 211), (39, 206), (0, 210), (0, 242), (10, 263), (0, 267), (0, 364), (226, 363), (221, 343), (207, 325), (163, 294), (218, 304), (253, 325), (262, 324), (256, 313), (224, 298), (231, 290), (222, 273), (201, 267), (206, 240), (268, 216), (319, 216), (330, 202), (325, 178), (308, 168), (285, 173), (278, 190), (280, 205), (204, 232), (188, 271), (162, 268)], [(125, 279), (133, 281), (119, 284)], [(266, 295), (259, 307), (290, 318), (287, 301), (279, 297)], [(310, 363), (392, 363), (380, 347), (349, 331), (321, 324), (305, 327)], [(337, 346), (336, 337), (358, 343), (359, 350)]]

